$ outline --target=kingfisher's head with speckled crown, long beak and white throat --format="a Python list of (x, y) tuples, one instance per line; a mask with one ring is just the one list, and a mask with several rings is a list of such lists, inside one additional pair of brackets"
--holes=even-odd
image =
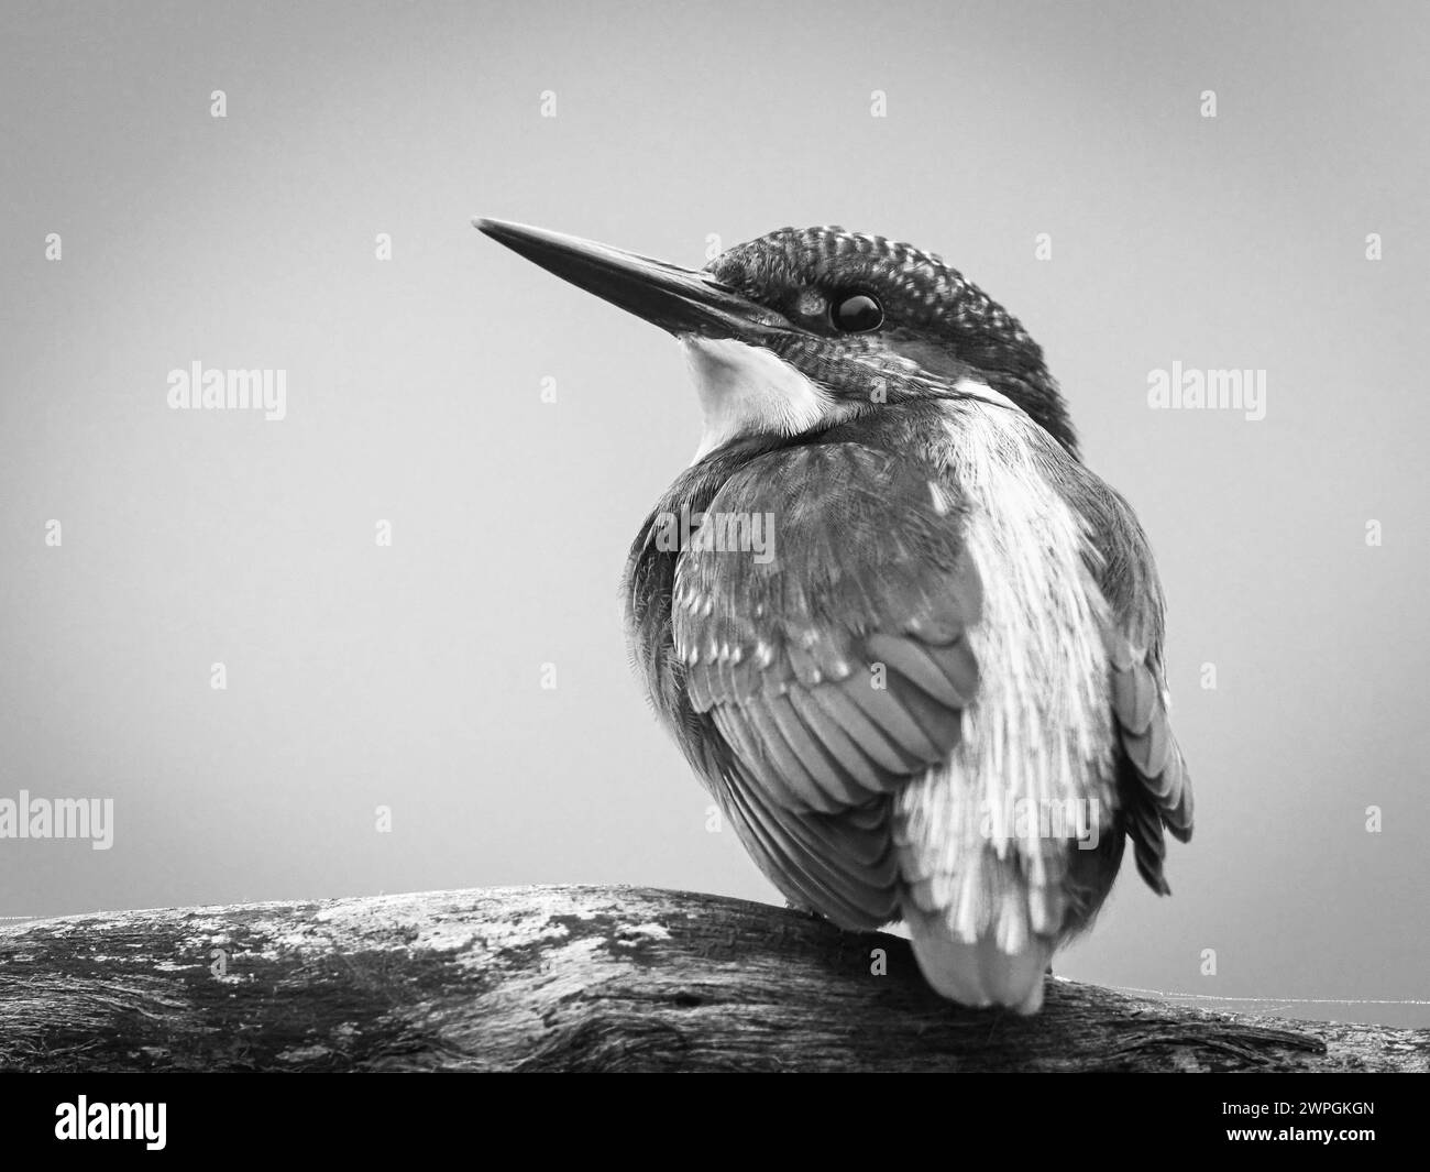
[(1038, 343), (931, 253), (841, 228), (782, 228), (696, 272), (543, 229), (475, 223), (681, 341), (705, 412), (698, 456), (961, 395), (1007, 401), (1077, 455)]

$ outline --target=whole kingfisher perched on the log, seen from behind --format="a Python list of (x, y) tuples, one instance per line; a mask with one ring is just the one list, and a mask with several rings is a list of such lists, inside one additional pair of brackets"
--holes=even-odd
[(902, 922), (944, 997), (1035, 1013), (1127, 840), (1168, 894), (1193, 830), (1153, 554), (1042, 349), (842, 228), (692, 270), (473, 223), (685, 353), (702, 434), (631, 547), (626, 633), (754, 861), (839, 927)]

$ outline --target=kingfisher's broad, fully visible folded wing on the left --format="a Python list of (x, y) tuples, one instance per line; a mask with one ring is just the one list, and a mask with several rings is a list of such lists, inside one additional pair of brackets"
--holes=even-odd
[(788, 896), (849, 927), (897, 914), (887, 794), (948, 757), (977, 688), (961, 509), (889, 452), (779, 449), (729, 478), (676, 567), (675, 653), (728, 746), (726, 810)]

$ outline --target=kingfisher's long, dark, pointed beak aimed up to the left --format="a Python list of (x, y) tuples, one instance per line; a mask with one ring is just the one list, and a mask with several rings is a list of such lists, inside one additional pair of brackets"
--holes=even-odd
[(778, 313), (692, 269), (522, 223), (472, 223), (546, 272), (671, 333), (749, 338), (788, 328)]

